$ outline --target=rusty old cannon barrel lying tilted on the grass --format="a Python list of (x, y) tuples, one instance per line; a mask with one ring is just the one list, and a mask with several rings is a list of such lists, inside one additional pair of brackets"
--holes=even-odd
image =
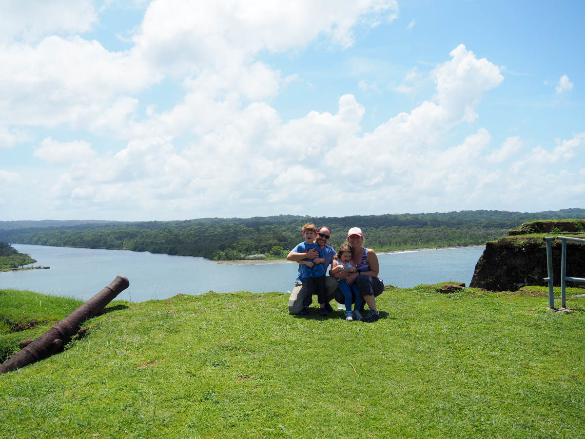
[(16, 371), (16, 369), (59, 352), (77, 334), (85, 320), (101, 313), (104, 307), (129, 285), (130, 283), (125, 276), (116, 276), (111, 284), (95, 294), (77, 310), (54, 324), (49, 331), (2, 363), (0, 373)]

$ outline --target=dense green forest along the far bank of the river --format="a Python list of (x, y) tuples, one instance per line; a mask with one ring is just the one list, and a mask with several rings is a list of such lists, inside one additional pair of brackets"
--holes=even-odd
[(0, 221), (0, 242), (203, 256), (216, 260), (283, 258), (302, 241), (305, 222), (331, 228), (330, 245), (360, 227), (377, 251), (481, 245), (535, 219), (585, 218), (585, 209), (543, 212), (474, 210), (351, 217), (278, 215), (186, 221)]

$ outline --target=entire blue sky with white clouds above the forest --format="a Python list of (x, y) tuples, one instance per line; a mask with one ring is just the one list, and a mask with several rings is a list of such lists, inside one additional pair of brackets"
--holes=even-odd
[(578, 1), (0, 6), (0, 219), (583, 207)]

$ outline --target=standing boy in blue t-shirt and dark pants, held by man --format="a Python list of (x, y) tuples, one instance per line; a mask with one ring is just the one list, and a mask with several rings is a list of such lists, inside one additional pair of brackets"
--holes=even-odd
[(315, 241), (316, 233), (317, 228), (315, 227), (315, 224), (305, 224), (302, 227), (302, 236), (305, 238), (305, 241), (292, 249), (292, 251), (297, 253), (306, 253), (307, 250), (311, 248), (317, 249), (319, 252), (319, 258), (312, 260), (303, 259), (300, 261), (301, 280), (307, 290), (307, 299), (305, 299), (303, 303), (304, 309), (301, 311), (302, 315), (307, 314), (309, 305), (311, 305), (312, 302), (313, 294), (317, 295), (317, 300), (321, 305), (319, 315), (327, 315), (325, 309), (325, 266), (323, 265), (325, 258), (323, 257), (321, 247), (313, 243), (313, 241)]

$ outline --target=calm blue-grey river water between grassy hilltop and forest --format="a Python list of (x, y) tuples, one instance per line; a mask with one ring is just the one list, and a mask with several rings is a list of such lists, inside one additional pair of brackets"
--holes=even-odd
[[(166, 299), (177, 293), (201, 294), (246, 290), (252, 293), (287, 291), (294, 286), (295, 263), (222, 265), (192, 256), (154, 255), (148, 252), (94, 250), (12, 244), (48, 270), (0, 273), (0, 289), (38, 291), (57, 296), (90, 299), (117, 275), (130, 286), (118, 299)], [(387, 285), (413, 287), (447, 280), (469, 285), (484, 247), (421, 250), (378, 255), (380, 277)]]

